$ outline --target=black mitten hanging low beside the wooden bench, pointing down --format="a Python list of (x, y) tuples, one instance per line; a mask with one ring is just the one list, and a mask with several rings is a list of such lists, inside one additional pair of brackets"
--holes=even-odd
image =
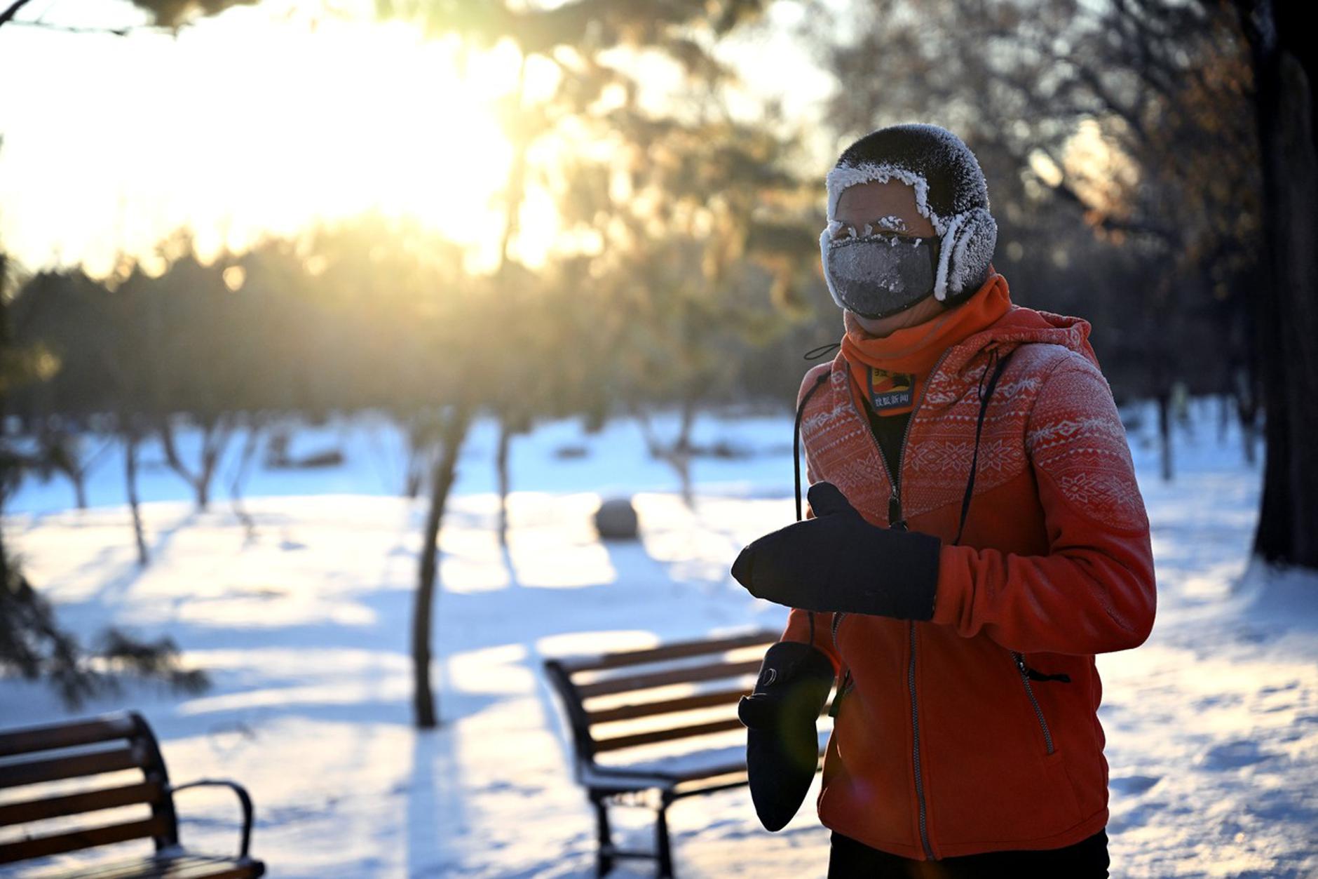
[(766, 830), (782, 830), (809, 791), (820, 762), (815, 723), (833, 677), (833, 663), (824, 651), (779, 641), (764, 653), (755, 690), (737, 705), (737, 717), (747, 730), (750, 798)]

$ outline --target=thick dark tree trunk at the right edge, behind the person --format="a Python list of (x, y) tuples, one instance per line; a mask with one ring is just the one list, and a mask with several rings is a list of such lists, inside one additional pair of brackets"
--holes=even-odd
[(1253, 549), (1273, 564), (1318, 569), (1314, 71), (1301, 9), (1272, 0), (1239, 0), (1236, 8), (1253, 61), (1272, 271), (1255, 297), (1267, 461)]

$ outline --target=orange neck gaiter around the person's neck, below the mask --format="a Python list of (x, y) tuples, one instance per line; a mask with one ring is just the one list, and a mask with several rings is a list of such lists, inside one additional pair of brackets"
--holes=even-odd
[(942, 352), (986, 329), (1010, 308), (1007, 278), (990, 269), (983, 286), (957, 308), (882, 338), (866, 333), (855, 315), (844, 311), (842, 356), (850, 368), (857, 408), (863, 410), (862, 401), (869, 401), (880, 416), (911, 412)]

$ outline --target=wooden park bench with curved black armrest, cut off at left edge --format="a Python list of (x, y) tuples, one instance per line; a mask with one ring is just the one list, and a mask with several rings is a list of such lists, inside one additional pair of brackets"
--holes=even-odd
[[(216, 785), (232, 789), (243, 805), (236, 858), (179, 846), (174, 795)], [(95, 821), (86, 818), (107, 810), (115, 812)], [(156, 735), (140, 714), (0, 732), (0, 864), (148, 838), (156, 854), (74, 868), (61, 876), (246, 879), (265, 874), (265, 864), (248, 855), (252, 798), (246, 791), (233, 781), (210, 779), (170, 784)]]

